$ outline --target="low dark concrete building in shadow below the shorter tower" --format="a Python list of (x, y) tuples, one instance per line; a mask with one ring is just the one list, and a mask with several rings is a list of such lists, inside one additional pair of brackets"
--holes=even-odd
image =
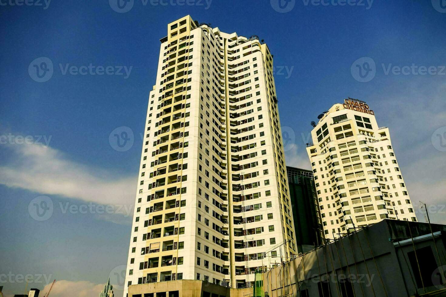
[[(446, 226), (433, 225), (433, 229), (438, 234), (435, 241), (439, 253), (445, 255)], [(438, 260), (429, 230), (429, 225), (424, 223), (384, 220), (264, 273), (265, 292), (269, 297), (301, 296), (297, 295), (299, 290), (308, 290), (307, 296), (322, 296), (318, 283), (327, 279), (329, 285), (326, 286), (332, 297), (353, 296), (353, 293), (343, 293), (351, 290), (355, 296), (403, 297), (442, 289), (444, 283), (426, 285), (425, 289), (417, 285), (414, 273), (419, 275), (420, 272), (414, 271), (409, 261), (408, 253), (413, 252), (409, 235), (412, 232), (415, 249), (421, 251), (420, 248), (431, 247), (434, 254), (434, 258), (429, 258), (433, 271), (428, 269), (421, 273), (425, 284), (436, 269), (446, 267), (441, 267), (445, 261)], [(422, 262), (423, 259), (428, 259), (427, 255), (418, 252), (418, 260)], [(423, 264), (426, 263), (420, 265)], [(444, 271), (439, 273), (444, 275)], [(344, 279), (349, 282), (343, 282)], [(444, 295), (438, 296), (446, 296), (446, 291), (440, 294)]]

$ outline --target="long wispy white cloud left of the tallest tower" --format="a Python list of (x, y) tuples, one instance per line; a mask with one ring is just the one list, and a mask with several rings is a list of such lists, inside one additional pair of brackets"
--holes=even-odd
[(70, 160), (62, 152), (39, 144), (4, 145), (12, 157), (0, 166), (0, 183), (45, 195), (112, 205), (132, 205), (135, 178)]

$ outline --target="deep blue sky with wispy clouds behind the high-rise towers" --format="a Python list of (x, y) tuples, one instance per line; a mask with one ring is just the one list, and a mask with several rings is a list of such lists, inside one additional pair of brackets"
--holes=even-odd
[[(283, 9), (278, 1), (134, 0), (119, 13), (113, 0), (41, 6), (0, 0), (0, 285), (6, 296), (23, 292), (20, 275), (27, 274), (29, 287), (39, 289), (57, 279), (52, 297), (71, 288), (77, 292), (64, 297), (93, 296), (109, 275), (119, 281), (159, 39), (167, 23), (187, 14), (268, 43), (287, 165), (310, 168), (310, 122), (343, 98), (358, 98), (390, 128), (413, 204), (424, 201), (431, 219), (446, 223), (446, 9), (440, 0), (344, 6), (335, 5), (342, 0), (281, 0)], [(33, 65), (49, 67), (41, 57), (53, 64), (45, 82), (32, 72)], [(355, 73), (355, 61), (375, 64), (367, 82)], [(73, 72), (90, 64), (99, 72), (110, 66), (113, 74)], [(126, 151), (116, 150), (114, 133), (109, 139), (116, 128), (133, 133)], [(51, 215), (32, 215), (34, 203), (52, 203)], [(417, 217), (424, 221), (420, 211)]]

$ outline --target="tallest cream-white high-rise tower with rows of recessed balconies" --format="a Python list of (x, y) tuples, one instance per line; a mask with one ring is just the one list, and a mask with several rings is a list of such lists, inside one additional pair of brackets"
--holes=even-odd
[(124, 296), (128, 285), (175, 279), (249, 286), (253, 272), (295, 253), (268, 46), (190, 16), (167, 32), (149, 94)]

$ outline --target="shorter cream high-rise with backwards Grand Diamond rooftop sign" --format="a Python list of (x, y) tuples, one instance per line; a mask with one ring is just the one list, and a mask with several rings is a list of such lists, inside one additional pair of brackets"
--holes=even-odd
[(325, 237), (387, 218), (416, 221), (389, 130), (367, 103), (348, 98), (318, 118), (307, 152)]

